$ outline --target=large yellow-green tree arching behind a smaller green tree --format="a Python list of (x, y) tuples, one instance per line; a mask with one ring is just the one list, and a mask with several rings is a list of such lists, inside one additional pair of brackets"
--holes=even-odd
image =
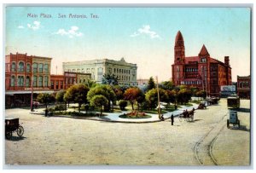
[(90, 101), (95, 95), (103, 95), (108, 99), (108, 106), (104, 106), (106, 111), (110, 110), (111, 102), (116, 101), (116, 95), (110, 85), (102, 84), (90, 89), (87, 94), (87, 99)]

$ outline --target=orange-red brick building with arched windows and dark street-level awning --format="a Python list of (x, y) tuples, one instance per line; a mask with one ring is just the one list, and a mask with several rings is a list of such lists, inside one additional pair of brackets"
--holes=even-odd
[(29, 106), (32, 90), (49, 92), (51, 58), (26, 54), (5, 56), (5, 106)]

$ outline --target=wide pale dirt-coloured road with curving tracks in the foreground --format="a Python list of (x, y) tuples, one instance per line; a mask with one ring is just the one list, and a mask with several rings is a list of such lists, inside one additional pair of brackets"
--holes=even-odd
[[(215, 138), (212, 155), (218, 164), (248, 165), (249, 101), (241, 100), (241, 107), (242, 111), (238, 112), (241, 129), (224, 127), (223, 130), (214, 127), (226, 121), (226, 100), (207, 110), (197, 110), (194, 122), (180, 122), (175, 118), (173, 126), (170, 120), (152, 124), (108, 123), (45, 118), (30, 114), (29, 110), (9, 109), (6, 116), (20, 118), (25, 133), (23, 138), (5, 141), (5, 161), (40, 165), (201, 165), (195, 155), (207, 160), (202, 159), (202, 155), (211, 139), (197, 144), (214, 129), (216, 132), (209, 137)], [(203, 165), (214, 164), (205, 161)]]

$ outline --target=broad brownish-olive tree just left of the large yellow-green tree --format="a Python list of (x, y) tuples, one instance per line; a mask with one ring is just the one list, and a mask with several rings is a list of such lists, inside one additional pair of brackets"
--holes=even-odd
[(71, 100), (79, 104), (79, 112), (82, 104), (87, 103), (87, 93), (89, 88), (85, 84), (75, 84), (67, 89), (68, 96), (71, 96)]

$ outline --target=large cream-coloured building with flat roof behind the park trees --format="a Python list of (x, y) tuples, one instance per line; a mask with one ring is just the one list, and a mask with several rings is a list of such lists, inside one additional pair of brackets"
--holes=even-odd
[(120, 85), (137, 86), (137, 65), (131, 64), (122, 58), (120, 61), (94, 60), (63, 62), (64, 72), (90, 73), (91, 79), (102, 84), (103, 75), (114, 74), (119, 78)]

